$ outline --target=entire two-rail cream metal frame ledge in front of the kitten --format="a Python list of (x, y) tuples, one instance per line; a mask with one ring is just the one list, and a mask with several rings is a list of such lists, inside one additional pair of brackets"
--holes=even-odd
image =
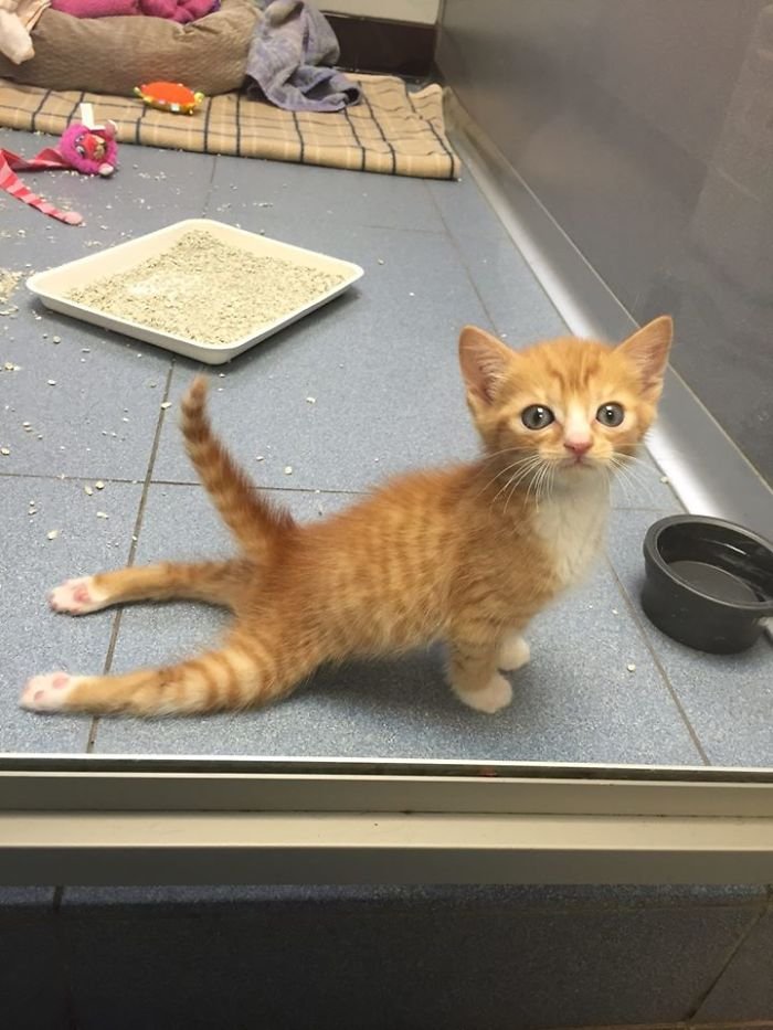
[(6, 884), (773, 881), (771, 771), (2, 764)]

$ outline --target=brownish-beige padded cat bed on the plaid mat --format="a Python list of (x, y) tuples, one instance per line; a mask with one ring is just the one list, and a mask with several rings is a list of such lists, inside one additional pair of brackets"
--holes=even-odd
[(253, 0), (223, 0), (221, 10), (187, 25), (146, 15), (73, 18), (49, 9), (32, 32), (35, 56), (12, 64), (0, 55), (0, 78), (118, 95), (161, 78), (215, 96), (244, 82), (258, 17)]

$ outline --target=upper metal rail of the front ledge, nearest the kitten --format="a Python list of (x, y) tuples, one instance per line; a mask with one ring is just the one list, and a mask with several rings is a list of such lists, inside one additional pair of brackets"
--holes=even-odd
[[(773, 771), (93, 758), (0, 765), (0, 814), (92, 811), (773, 819)], [(3, 847), (0, 837), (0, 853)]]

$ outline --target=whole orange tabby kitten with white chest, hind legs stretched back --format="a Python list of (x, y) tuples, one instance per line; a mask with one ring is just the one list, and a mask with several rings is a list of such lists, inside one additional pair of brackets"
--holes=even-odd
[(481, 712), (508, 704), (499, 670), (529, 660), (521, 630), (599, 551), (610, 472), (655, 417), (671, 342), (658, 318), (612, 348), (573, 338), (512, 351), (481, 329), (459, 340), (478, 460), (402, 476), (324, 522), (297, 524), (255, 492), (212, 435), (197, 379), (182, 401), (188, 454), (239, 558), (70, 580), (56, 612), (188, 597), (226, 605), (215, 650), (120, 676), (30, 680), (35, 711), (134, 715), (265, 704), (322, 662), (443, 639), (448, 680)]

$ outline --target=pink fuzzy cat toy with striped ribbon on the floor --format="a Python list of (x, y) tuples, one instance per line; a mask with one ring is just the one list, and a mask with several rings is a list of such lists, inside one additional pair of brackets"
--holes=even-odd
[(57, 147), (46, 147), (27, 160), (11, 150), (0, 149), (0, 189), (18, 200), (42, 211), (67, 225), (80, 225), (83, 215), (77, 211), (61, 211), (28, 189), (15, 174), (18, 171), (75, 170), (84, 176), (112, 176), (118, 166), (116, 126), (94, 124), (91, 104), (81, 105), (81, 121), (75, 121), (62, 134)]

